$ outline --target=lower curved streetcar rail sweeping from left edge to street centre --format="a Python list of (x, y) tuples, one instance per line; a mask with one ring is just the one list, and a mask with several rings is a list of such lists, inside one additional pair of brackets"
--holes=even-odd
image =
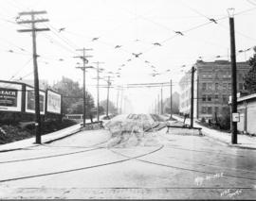
[(60, 175), (60, 174), (64, 174), (64, 173), (76, 172), (76, 171), (81, 171), (81, 170), (87, 170), (87, 169), (93, 169), (93, 168), (97, 168), (97, 167), (102, 167), (102, 166), (117, 164), (117, 163), (129, 161), (129, 160), (132, 160), (132, 159), (138, 159), (138, 158), (140, 158), (140, 157), (144, 157), (144, 156), (153, 154), (153, 153), (159, 151), (160, 149), (162, 149), (163, 147), (164, 147), (164, 145), (161, 145), (160, 147), (158, 147), (157, 149), (155, 149), (155, 150), (153, 150), (153, 151), (151, 151), (151, 152), (148, 152), (148, 153), (139, 155), (139, 156), (134, 157), (134, 158), (120, 159), (120, 160), (117, 160), (117, 161), (101, 163), (101, 164), (98, 164), (98, 165), (85, 166), (85, 167), (81, 167), (81, 168), (74, 168), (74, 169), (69, 169), (69, 170), (64, 170), (64, 171), (57, 171), (57, 172), (51, 172), (51, 173), (46, 173), (46, 174), (38, 174), (38, 175), (33, 175), (33, 176), (20, 176), (20, 177), (7, 178), (7, 179), (2, 179), (2, 180), (0, 180), (0, 183), (2, 183), (2, 182), (8, 182), (8, 181), (14, 181), (14, 180), (22, 180), (22, 179), (27, 179), (27, 178), (40, 177), (40, 176)]

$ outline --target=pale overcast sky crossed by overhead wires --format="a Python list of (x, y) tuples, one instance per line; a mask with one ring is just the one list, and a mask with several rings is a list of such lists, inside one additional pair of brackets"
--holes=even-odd
[[(52, 84), (65, 76), (82, 85), (82, 71), (76, 68), (82, 60), (74, 57), (82, 54), (77, 49), (92, 49), (85, 52), (92, 56), (87, 65), (96, 67), (94, 62), (101, 61), (101, 76), (113, 76), (110, 99), (116, 103), (116, 86), (124, 86), (126, 111), (148, 112), (160, 88), (125, 86), (172, 79), (173, 92), (178, 92), (179, 79), (197, 59), (229, 59), (228, 8), (235, 12), (237, 52), (251, 48), (256, 44), (256, 0), (1, 0), (0, 79), (33, 79), (31, 35), (17, 32), (27, 26), (15, 21), (21, 11), (46, 10), (38, 18), (49, 22), (37, 25), (50, 28), (37, 34), (40, 79)], [(237, 61), (252, 54), (239, 53)], [(153, 76), (154, 69), (159, 75)], [(96, 75), (95, 69), (86, 72), (86, 88), (95, 99)], [(163, 87), (163, 98), (169, 96), (170, 88)], [(100, 99), (106, 99), (106, 88), (101, 88)]]

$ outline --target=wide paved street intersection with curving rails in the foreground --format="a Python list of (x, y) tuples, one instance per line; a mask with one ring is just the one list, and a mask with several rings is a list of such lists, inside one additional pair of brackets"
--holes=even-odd
[(256, 151), (179, 129), (83, 131), (0, 153), (0, 198), (254, 199)]

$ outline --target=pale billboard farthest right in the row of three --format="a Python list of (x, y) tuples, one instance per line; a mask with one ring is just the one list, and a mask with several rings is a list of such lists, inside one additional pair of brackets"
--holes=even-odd
[(47, 112), (58, 113), (62, 112), (62, 95), (57, 92), (47, 90)]

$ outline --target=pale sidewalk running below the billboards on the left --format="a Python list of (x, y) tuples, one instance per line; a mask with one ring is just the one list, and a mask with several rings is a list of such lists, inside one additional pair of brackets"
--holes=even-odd
[[(41, 141), (42, 143), (53, 142), (53, 141), (65, 138), (67, 136), (73, 135), (79, 132), (80, 130), (81, 130), (80, 124), (75, 126), (69, 126), (62, 130), (58, 130), (56, 132), (42, 135)], [(0, 152), (14, 151), (14, 150), (24, 149), (28, 147), (38, 146), (38, 144), (34, 142), (35, 142), (35, 137), (22, 140), (22, 141), (6, 143), (3, 145), (0, 145)]]

